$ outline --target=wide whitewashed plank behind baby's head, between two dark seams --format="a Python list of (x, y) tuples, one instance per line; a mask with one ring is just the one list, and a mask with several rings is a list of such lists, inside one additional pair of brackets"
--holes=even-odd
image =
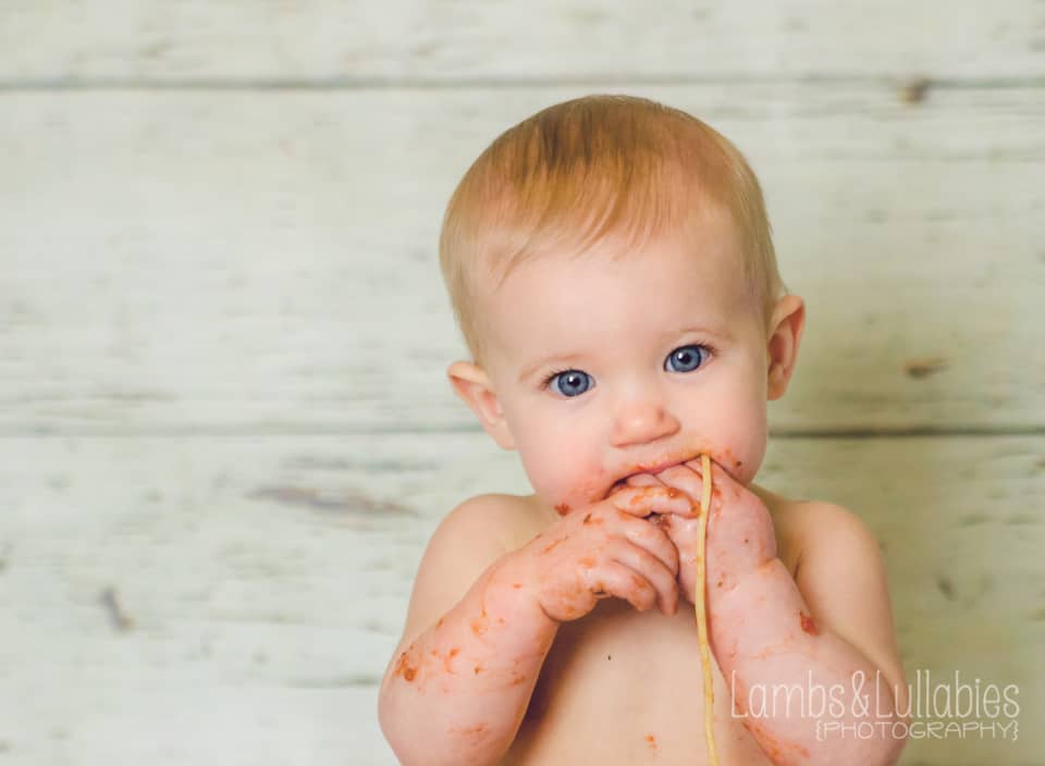
[[(762, 176), (808, 306), (782, 432), (1045, 432), (1040, 90), (623, 89)], [(581, 92), (0, 96), (0, 432), (475, 428), (442, 210), (505, 126)]]

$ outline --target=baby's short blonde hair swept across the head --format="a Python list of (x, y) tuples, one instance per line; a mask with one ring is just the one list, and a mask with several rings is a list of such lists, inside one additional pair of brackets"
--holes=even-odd
[(743, 155), (697, 118), (646, 98), (592, 95), (554, 104), (501, 134), (446, 207), (440, 268), (468, 350), (482, 365), (482, 287), (519, 264), (577, 257), (603, 239), (619, 254), (701, 213), (728, 211), (762, 324), (786, 287), (762, 189)]

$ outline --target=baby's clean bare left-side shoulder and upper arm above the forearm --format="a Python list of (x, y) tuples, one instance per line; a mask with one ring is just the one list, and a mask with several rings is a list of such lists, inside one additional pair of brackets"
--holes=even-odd
[(520, 497), (482, 494), (443, 517), (414, 578), (401, 646), (453, 608), (488, 568), (517, 547), (529, 529), (529, 514)]

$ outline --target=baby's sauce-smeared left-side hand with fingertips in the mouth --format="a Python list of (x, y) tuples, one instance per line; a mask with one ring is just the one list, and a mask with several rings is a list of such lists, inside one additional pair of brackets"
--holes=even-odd
[(617, 596), (644, 611), (678, 610), (678, 554), (644, 517), (688, 512), (685, 493), (668, 486), (624, 487), (560, 518), (511, 556), (544, 613), (564, 622), (598, 600)]

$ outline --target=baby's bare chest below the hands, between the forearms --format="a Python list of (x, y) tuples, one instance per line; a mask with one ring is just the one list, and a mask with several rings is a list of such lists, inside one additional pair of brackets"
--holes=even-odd
[[(667, 617), (606, 600), (564, 625), (503, 763), (704, 763), (700, 654), (687, 606)], [(767, 764), (734, 714), (717, 664), (713, 671), (720, 762)]]

